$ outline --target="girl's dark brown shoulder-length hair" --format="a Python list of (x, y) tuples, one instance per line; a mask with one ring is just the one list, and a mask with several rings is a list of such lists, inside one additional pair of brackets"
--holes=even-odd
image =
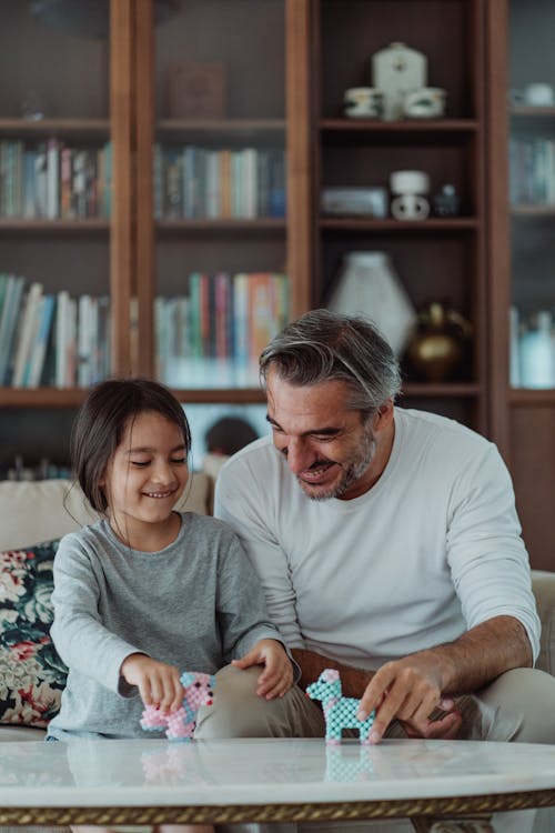
[(150, 379), (110, 379), (91, 389), (71, 432), (71, 465), (89, 503), (104, 513), (108, 501), (100, 481), (120, 444), (128, 422), (145, 411), (162, 414), (183, 434), (191, 450), (191, 430), (175, 397)]

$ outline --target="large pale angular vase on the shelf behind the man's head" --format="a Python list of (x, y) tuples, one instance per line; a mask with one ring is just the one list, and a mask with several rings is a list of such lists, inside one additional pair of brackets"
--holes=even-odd
[(416, 311), (385, 252), (349, 252), (327, 299), (329, 309), (369, 315), (398, 357)]

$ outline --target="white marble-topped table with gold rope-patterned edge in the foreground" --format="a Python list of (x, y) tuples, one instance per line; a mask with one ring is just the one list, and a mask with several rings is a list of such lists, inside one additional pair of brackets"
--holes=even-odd
[(555, 746), (450, 741), (0, 743), (0, 824), (464, 815), (555, 805)]

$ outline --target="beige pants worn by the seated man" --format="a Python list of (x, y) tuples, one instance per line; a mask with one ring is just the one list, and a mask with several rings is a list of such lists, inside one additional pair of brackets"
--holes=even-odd
[[(294, 686), (265, 701), (254, 693), (260, 669), (231, 665), (216, 674), (214, 704), (201, 707), (195, 737), (323, 737), (319, 705)], [(515, 669), (472, 696), (461, 697), (462, 740), (555, 743), (555, 678), (535, 669)], [(404, 733), (393, 723), (387, 736)]]

